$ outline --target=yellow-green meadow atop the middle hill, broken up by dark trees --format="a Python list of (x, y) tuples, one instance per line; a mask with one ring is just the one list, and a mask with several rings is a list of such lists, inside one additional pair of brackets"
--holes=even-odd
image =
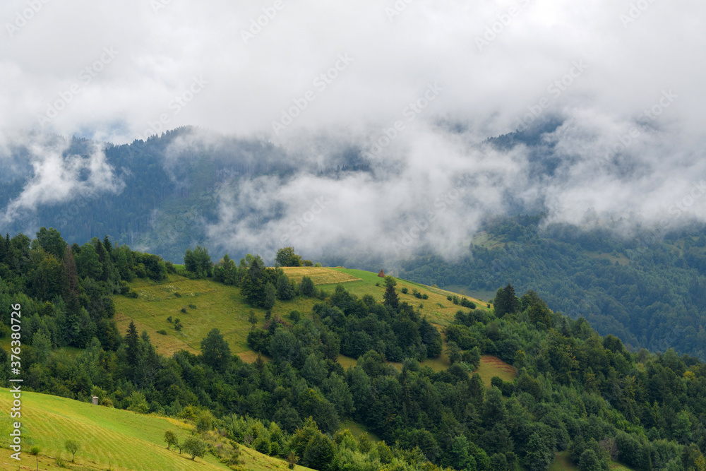
[[(382, 301), (385, 292), (385, 282), (377, 273), (363, 270), (347, 270), (345, 268), (301, 267), (285, 268), (285, 273), (293, 280), (301, 280), (309, 276), (321, 289), (333, 292), (338, 283), (345, 283), (345, 288), (362, 297), (371, 294)], [(376, 286), (377, 285), (377, 286)], [(142, 333), (146, 330), (157, 351), (167, 356), (179, 350), (199, 352), (201, 340), (213, 328), (220, 329), (223, 337), (229, 343), (232, 352), (239, 354), (246, 361), (254, 361), (256, 356), (247, 345), (247, 335), (251, 329), (248, 322), (249, 312), (253, 311), (260, 323), (264, 321), (263, 309), (251, 308), (245, 302), (237, 287), (226, 286), (212, 280), (189, 280), (178, 275), (169, 275), (164, 282), (151, 280), (135, 280), (130, 283), (131, 289), (138, 294), (136, 299), (125, 296), (113, 297), (115, 302), (115, 320), (121, 331), (125, 333), (133, 321)], [(402, 294), (406, 287), (407, 294)], [(429, 295), (429, 299), (417, 299), (412, 290)], [(400, 300), (407, 301), (419, 307), (431, 323), (439, 327), (447, 326), (460, 306), (448, 301), (446, 297), (455, 293), (436, 287), (427, 287), (406, 280), (397, 280), (397, 292)], [(472, 299), (474, 300), (474, 299)], [(478, 309), (486, 309), (485, 304), (477, 302)], [(291, 301), (277, 301), (272, 309), (273, 314), (287, 319), (289, 312), (297, 310), (304, 315), (311, 313), (318, 299), (297, 297)], [(482, 306), (482, 307), (481, 307)], [(186, 311), (186, 312), (184, 312)], [(167, 318), (179, 318), (183, 328), (174, 330)], [(164, 330), (167, 335), (158, 333)], [(431, 362), (432, 368), (438, 365)]]

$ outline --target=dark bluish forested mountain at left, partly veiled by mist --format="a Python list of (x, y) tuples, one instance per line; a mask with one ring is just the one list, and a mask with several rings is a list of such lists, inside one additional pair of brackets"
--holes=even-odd
[[(68, 201), (37, 203), (23, 208), (6, 224), (9, 232), (25, 227), (56, 227), (71, 242), (111, 234), (115, 242), (149, 247), (175, 263), (181, 262), (184, 249), (203, 244), (205, 225), (217, 220), (217, 189), (238, 186), (260, 175), (286, 176), (297, 169), (296, 155), (257, 139), (196, 136), (198, 130), (183, 127), (136, 140), (130, 144), (97, 143), (84, 138), (45, 138), (49, 149), (62, 148), (62, 158), (85, 159), (97, 148), (112, 168), (114, 188), (97, 186), (76, 191)], [(0, 208), (6, 208), (37, 177), (29, 165), (30, 150), (23, 145), (3, 149), (3, 174), (0, 175)], [(368, 167), (359, 153), (344, 150), (330, 156), (318, 174)], [(85, 183), (88, 171), (79, 183)], [(255, 210), (246, 213), (256, 214)], [(266, 221), (258, 220), (259, 224)], [(245, 255), (245, 254), (242, 254)]]

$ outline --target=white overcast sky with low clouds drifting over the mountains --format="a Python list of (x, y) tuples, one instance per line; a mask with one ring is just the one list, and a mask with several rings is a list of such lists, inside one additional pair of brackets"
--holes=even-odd
[[(355, 143), (379, 165), (221, 189), (209, 230), (234, 245), (286, 237), (313, 250), (355, 232), (370, 249), (452, 254), (508, 211), (508, 193), (575, 224), (703, 220), (705, 21), (695, 0), (6, 0), (0, 164), (32, 141), (35, 177), (4, 217), (51, 195), (121, 191), (100, 149), (61, 161), (37, 136), (130, 143), (193, 125), (312, 165)], [(545, 136), (561, 157), (551, 177), (530, 176), (529, 150), (484, 144), (549, 117), (562, 123)], [(245, 198), (289, 217), (254, 230)], [(329, 202), (320, 213), (316, 198)]]

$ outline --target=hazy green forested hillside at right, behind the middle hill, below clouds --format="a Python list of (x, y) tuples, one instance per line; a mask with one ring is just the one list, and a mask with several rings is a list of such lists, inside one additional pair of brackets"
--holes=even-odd
[(489, 223), (459, 261), (433, 254), (402, 263), (428, 285), (536, 291), (551, 309), (584, 316), (602, 335), (706, 359), (706, 231), (697, 227), (623, 239), (606, 229), (542, 227), (542, 217)]

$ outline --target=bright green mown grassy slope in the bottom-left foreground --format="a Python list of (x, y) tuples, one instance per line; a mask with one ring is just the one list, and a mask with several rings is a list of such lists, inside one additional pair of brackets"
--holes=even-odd
[[(11, 407), (11, 393), (0, 388), (0, 409)], [(71, 453), (64, 450), (66, 439), (82, 443), (76, 455), (80, 469), (112, 470), (228, 470), (211, 455), (192, 461), (186, 454), (164, 448), (164, 431), (171, 429), (186, 436), (191, 426), (165, 417), (140, 415), (126, 410), (110, 409), (52, 395), (25, 392), (22, 395), (23, 454), (21, 464), (35, 469), (35, 458), (27, 451), (39, 446), (40, 469), (56, 467), (52, 458), (61, 455), (71, 460)], [(8, 434), (13, 421), (8, 415), (0, 417), (0, 469), (16, 470), (17, 462), (10, 458)], [(286, 469), (282, 460), (261, 455), (241, 446), (245, 465), (249, 470)], [(48, 458), (52, 457), (52, 458)], [(255, 458), (253, 460), (253, 458)], [(7, 464), (10, 463), (10, 464)], [(297, 467), (306, 470), (304, 467)]]

